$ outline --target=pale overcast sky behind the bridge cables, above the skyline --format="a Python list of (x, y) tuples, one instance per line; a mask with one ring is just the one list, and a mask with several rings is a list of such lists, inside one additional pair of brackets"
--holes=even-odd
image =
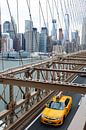
[[(8, 0), (11, 15), (14, 17), (15, 22), (17, 23), (17, 0)], [(42, 17), (42, 11), (46, 24), (48, 23), (49, 30), (52, 29), (52, 17), (49, 9), (49, 4), (47, 0), (40, 0), (42, 11), (40, 11), (39, 16), (39, 0), (28, 0), (30, 1), (30, 11), (33, 20), (34, 27), (37, 27), (40, 30), (40, 27), (44, 26), (44, 21)], [(55, 5), (56, 1), (56, 5)], [(65, 5), (64, 5), (65, 2)], [(18, 0), (19, 3), (19, 32), (24, 32), (25, 20), (29, 20), (29, 10), (26, 3), (26, 0)], [(53, 18), (57, 20), (57, 28), (61, 27), (64, 29), (64, 15), (66, 13), (70, 16), (70, 28), (71, 30), (79, 29), (81, 27), (83, 16), (85, 15), (86, 6), (85, 0), (49, 0), (51, 12)], [(62, 7), (61, 7), (62, 4)], [(6, 0), (0, 0), (1, 6), (1, 22), (10, 21), (10, 14), (7, 6)], [(56, 9), (57, 7), (57, 9)], [(65, 8), (66, 7), (66, 8)], [(47, 9), (46, 9), (47, 8)], [(63, 9), (63, 11), (62, 11)], [(48, 10), (48, 13), (46, 12)], [(64, 13), (64, 14), (63, 14)], [(60, 22), (58, 20), (60, 18)], [(41, 23), (40, 23), (41, 21)]]

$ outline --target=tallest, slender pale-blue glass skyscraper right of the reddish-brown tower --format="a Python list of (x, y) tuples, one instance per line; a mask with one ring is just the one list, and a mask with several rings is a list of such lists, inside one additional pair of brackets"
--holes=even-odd
[(69, 41), (69, 14), (65, 14), (64, 41)]

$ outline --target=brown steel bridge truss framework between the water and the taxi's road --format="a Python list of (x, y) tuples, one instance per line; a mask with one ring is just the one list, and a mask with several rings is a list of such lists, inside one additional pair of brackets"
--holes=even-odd
[[(4, 89), (0, 101), (5, 104), (0, 112), (1, 125), (4, 124), (4, 128), (9, 130), (24, 128), (43, 109), (49, 98), (60, 91), (85, 94), (86, 84), (72, 82), (81, 73), (86, 74), (81, 70), (86, 66), (85, 55), (85, 51), (80, 51), (52, 56), (38, 63), (1, 72), (0, 84)], [(8, 100), (5, 98), (6, 88)]]

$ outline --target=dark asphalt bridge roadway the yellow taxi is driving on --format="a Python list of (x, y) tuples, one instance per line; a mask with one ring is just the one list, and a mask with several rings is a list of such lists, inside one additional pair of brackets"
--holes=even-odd
[[(86, 77), (79, 76), (74, 80), (74, 83), (86, 84)], [(67, 130), (77, 109), (79, 108), (81, 94), (67, 92), (66, 95), (72, 96), (73, 105), (72, 105), (72, 109), (71, 109), (69, 115), (66, 117), (65, 122), (62, 126), (54, 127), (54, 126), (44, 125), (44, 124), (40, 123), (40, 117), (39, 117), (39, 118), (37, 118), (37, 120), (35, 120), (32, 123), (32, 125), (27, 126), (27, 128), (25, 128), (25, 130)]]

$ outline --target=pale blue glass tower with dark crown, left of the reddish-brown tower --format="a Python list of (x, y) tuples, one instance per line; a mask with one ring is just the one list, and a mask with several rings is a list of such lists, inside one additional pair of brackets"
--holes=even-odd
[(52, 31), (51, 31), (52, 40), (57, 39), (57, 26), (56, 26), (56, 19), (52, 20)]

